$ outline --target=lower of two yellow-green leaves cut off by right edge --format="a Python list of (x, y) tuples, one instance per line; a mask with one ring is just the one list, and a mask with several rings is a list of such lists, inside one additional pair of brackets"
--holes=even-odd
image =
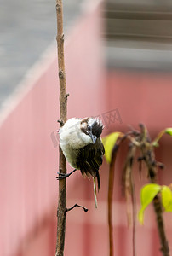
[(165, 209), (165, 212), (172, 212), (172, 192), (171, 189), (167, 186), (163, 186), (161, 191), (162, 203)]

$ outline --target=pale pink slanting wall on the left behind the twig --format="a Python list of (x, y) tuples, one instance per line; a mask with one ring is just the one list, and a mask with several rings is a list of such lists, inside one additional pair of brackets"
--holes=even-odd
[[(99, 9), (85, 12), (66, 40), (69, 117), (97, 115), (104, 106), (97, 97), (103, 90), (98, 13)], [(48, 62), (49, 67), (43, 68), (40, 76), (33, 77), (30, 90), (26, 88), (27, 93), (24, 92), (20, 101), (14, 104), (16, 106), (0, 126), (2, 256), (54, 254), (58, 197), (55, 179), (58, 138), (55, 130), (59, 128), (56, 48), (52, 61)], [(77, 174), (75, 177), (69, 182), (68, 193), (77, 180)], [(78, 198), (82, 199), (81, 196)], [(66, 237), (74, 237), (72, 224), (69, 227)], [(78, 237), (79, 230), (83, 232), (83, 227), (78, 228)], [(68, 243), (69, 238), (66, 245)], [(82, 251), (83, 246), (78, 250)], [(70, 251), (71, 247), (66, 247), (66, 253)]]

